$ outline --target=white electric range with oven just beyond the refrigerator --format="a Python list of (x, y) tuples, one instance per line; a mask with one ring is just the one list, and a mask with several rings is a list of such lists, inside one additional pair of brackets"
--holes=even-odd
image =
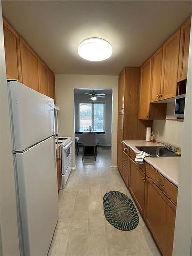
[[(60, 137), (59, 137), (60, 140)], [(66, 140), (61, 140), (59, 145), (61, 155), (61, 170), (62, 170), (62, 189), (65, 187), (69, 178), (72, 166), (72, 140), (71, 137), (66, 137)]]

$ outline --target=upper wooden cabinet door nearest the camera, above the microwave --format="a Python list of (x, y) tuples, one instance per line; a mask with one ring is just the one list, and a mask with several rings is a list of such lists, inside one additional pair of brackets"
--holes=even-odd
[(177, 81), (187, 79), (191, 17), (181, 26), (179, 68)]

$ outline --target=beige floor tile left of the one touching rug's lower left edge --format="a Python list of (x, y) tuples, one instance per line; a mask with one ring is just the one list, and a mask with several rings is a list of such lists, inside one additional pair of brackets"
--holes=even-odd
[(71, 234), (87, 234), (88, 233), (88, 218), (72, 218), (70, 235)]

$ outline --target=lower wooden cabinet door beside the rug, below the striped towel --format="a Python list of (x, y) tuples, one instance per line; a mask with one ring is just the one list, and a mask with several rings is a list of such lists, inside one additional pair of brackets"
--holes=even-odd
[(132, 160), (130, 160), (129, 190), (144, 216), (145, 174)]

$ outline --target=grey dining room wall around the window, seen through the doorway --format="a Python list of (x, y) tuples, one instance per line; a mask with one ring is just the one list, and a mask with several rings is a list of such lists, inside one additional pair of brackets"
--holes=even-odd
[[(98, 144), (99, 145), (111, 145), (111, 116), (112, 116), (112, 101), (111, 97), (112, 94), (110, 92), (100, 91), (99, 93), (105, 93), (106, 98), (97, 98), (97, 102), (104, 102), (105, 103), (105, 134), (98, 134)], [(89, 99), (89, 96), (85, 95), (82, 91), (82, 93), (75, 93), (74, 94), (75, 99), (75, 131), (79, 129), (79, 102), (92, 102), (91, 99)], [(77, 137), (79, 137), (80, 142), (80, 134), (76, 134)]]

